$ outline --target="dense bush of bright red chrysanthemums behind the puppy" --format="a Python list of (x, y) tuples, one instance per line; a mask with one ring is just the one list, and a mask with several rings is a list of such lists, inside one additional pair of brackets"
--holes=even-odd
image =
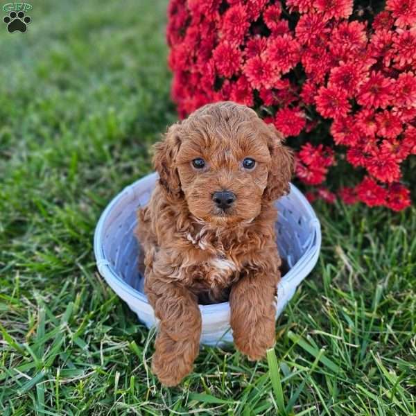
[(348, 204), (410, 205), (416, 0), (387, 0), (377, 15), (352, 0), (171, 0), (167, 40), (180, 116), (243, 103), (289, 137), (310, 199), (333, 202), (341, 177)]

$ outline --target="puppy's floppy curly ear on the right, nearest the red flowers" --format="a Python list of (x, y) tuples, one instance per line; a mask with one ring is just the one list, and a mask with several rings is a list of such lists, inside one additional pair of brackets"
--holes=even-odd
[(263, 199), (277, 200), (289, 191), (289, 181), (295, 168), (295, 159), (292, 151), (284, 146), (283, 136), (274, 125), (266, 125), (268, 135), (268, 148), (272, 157), (272, 164), (268, 173), (268, 182), (263, 192)]

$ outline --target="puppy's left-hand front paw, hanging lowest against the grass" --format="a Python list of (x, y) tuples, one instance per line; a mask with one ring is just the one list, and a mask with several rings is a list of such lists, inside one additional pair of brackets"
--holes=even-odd
[(178, 385), (192, 371), (192, 363), (184, 361), (183, 356), (159, 354), (155, 352), (152, 358), (152, 371), (166, 387)]

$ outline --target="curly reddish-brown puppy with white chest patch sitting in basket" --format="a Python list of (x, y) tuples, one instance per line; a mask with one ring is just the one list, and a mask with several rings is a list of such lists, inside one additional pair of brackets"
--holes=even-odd
[(229, 300), (234, 343), (251, 360), (274, 345), (281, 261), (273, 201), (288, 191), (293, 155), (272, 125), (227, 101), (172, 125), (154, 164), (159, 182), (135, 234), (160, 321), (152, 369), (171, 386), (198, 355), (198, 302)]

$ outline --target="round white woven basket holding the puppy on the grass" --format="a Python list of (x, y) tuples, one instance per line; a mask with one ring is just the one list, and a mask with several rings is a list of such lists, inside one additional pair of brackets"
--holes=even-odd
[[(137, 267), (139, 248), (133, 230), (137, 208), (146, 205), (155, 187), (152, 173), (126, 187), (107, 206), (96, 226), (94, 253), (98, 271), (114, 292), (148, 328), (157, 324), (152, 306), (143, 292), (143, 278)], [(311, 272), (320, 252), (320, 223), (311, 205), (291, 184), (291, 192), (276, 201), (279, 254), (290, 270), (277, 286), (276, 318), (295, 293), (297, 285)], [(228, 302), (200, 305), (201, 343), (232, 342)]]

